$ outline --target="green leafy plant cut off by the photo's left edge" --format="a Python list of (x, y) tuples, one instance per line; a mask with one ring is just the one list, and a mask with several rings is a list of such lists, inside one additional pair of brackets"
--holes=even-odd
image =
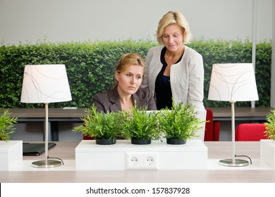
[(17, 117), (11, 117), (10, 110), (0, 109), (0, 140), (9, 141), (11, 135), (15, 132), (14, 123), (17, 123)]

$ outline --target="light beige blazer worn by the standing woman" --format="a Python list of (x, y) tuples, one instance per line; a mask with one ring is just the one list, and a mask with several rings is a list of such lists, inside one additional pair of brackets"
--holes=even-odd
[[(140, 87), (149, 87), (153, 94), (157, 75), (163, 66), (160, 60), (163, 48), (149, 49), (145, 60), (145, 74)], [(171, 66), (170, 80), (176, 103), (191, 103), (197, 110), (204, 110), (204, 66), (200, 53), (185, 46), (181, 61)]]

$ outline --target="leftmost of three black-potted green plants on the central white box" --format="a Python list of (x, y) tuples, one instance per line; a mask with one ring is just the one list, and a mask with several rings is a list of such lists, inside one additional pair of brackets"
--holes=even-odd
[(99, 113), (92, 105), (85, 110), (85, 117), (81, 117), (83, 124), (73, 128), (73, 132), (82, 132), (91, 136), (96, 144), (115, 144), (121, 132), (121, 113)]

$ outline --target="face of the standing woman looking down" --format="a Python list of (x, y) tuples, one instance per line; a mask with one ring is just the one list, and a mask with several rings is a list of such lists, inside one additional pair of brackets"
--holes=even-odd
[(183, 46), (183, 30), (180, 26), (173, 24), (164, 28), (162, 41), (166, 49), (175, 52)]

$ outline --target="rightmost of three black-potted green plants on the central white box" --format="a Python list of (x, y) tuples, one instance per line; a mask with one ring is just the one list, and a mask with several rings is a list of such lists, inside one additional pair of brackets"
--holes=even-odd
[(167, 144), (185, 144), (188, 139), (197, 137), (196, 132), (202, 129), (202, 121), (196, 117), (195, 107), (189, 103), (175, 103), (170, 109), (163, 109), (159, 115), (159, 127), (166, 137)]

